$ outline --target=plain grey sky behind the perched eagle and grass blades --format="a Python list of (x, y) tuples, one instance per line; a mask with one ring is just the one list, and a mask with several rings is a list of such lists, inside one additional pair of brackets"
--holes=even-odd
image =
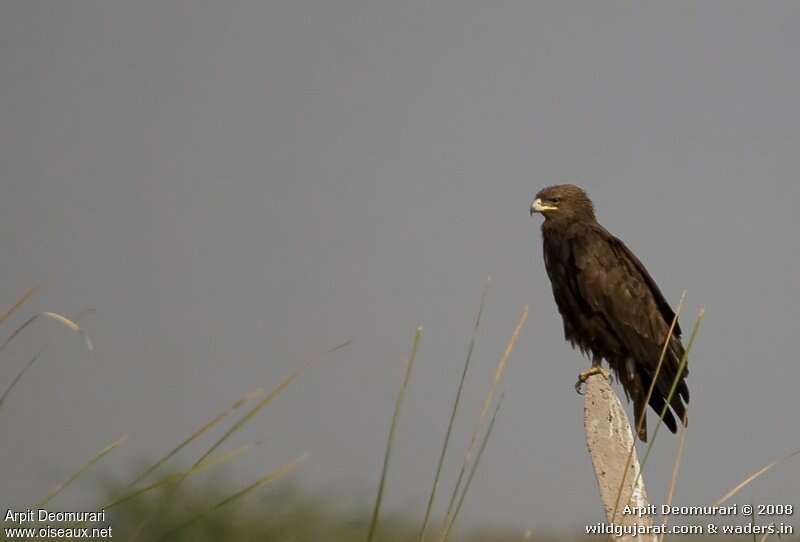
[[(491, 275), (451, 467), (531, 317), (464, 517), (599, 520), (572, 391), (588, 361), (528, 216), (565, 181), (673, 304), (688, 289), (685, 329), (707, 307), (677, 500), (800, 445), (800, 4), (26, 1), (0, 8), (0, 41), (0, 303), (44, 280), (28, 312), (98, 311), (94, 356), (54, 323), (4, 352), (0, 382), (54, 344), (0, 414), (0, 502), (122, 433), (106, 472), (130, 473), (349, 337), (237, 437), (263, 444), (229, 474), (310, 451), (298, 479), (371, 499), (422, 322), (387, 496), (421, 515)], [(660, 502), (676, 439), (659, 441)], [(797, 504), (799, 468), (740, 502)]]

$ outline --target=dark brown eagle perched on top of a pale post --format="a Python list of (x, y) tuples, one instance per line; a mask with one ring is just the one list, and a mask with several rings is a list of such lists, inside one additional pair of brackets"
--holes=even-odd
[[(608, 373), (606, 360), (633, 402), (638, 437), (647, 441), (645, 400), (665, 351), (649, 404), (659, 415), (675, 382), (684, 348), (675, 312), (642, 262), (625, 244), (598, 224), (594, 205), (575, 185), (548, 186), (536, 194), (530, 214), (540, 213), (544, 265), (553, 288), (564, 336), (592, 367), (578, 376), (575, 389), (592, 374)], [(689, 388), (684, 369), (664, 415), (675, 433), (675, 421), (686, 420)], [(673, 415), (674, 413), (674, 415)]]

